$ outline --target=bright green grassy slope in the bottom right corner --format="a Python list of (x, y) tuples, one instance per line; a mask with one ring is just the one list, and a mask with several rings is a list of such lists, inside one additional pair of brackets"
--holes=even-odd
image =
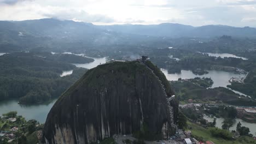
[(252, 137), (249, 136), (242, 136), (239, 139), (235, 140), (235, 141), (228, 141), (228, 140), (224, 140), (222, 138), (219, 137), (213, 137), (210, 133), (209, 130), (207, 130), (206, 128), (201, 127), (200, 125), (197, 125), (195, 123), (191, 123), (188, 122), (189, 128), (191, 127), (191, 133), (195, 136), (199, 136), (199, 137), (203, 137), (203, 139), (205, 141), (210, 140), (216, 144), (238, 144), (238, 143), (245, 143), (245, 144), (249, 144), (249, 143), (256, 143), (256, 140), (253, 140)]

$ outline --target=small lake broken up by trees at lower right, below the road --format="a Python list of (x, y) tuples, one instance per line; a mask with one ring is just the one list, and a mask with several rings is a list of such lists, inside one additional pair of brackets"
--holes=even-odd
[[(210, 116), (203, 116), (204, 119), (206, 119), (208, 122), (213, 122), (213, 118)], [(216, 118), (216, 127), (218, 128), (222, 128), (222, 124), (223, 124), (224, 118)], [(240, 122), (242, 124), (242, 126), (245, 126), (247, 128), (250, 129), (250, 134), (253, 134), (254, 136), (256, 136), (256, 124), (255, 123), (248, 123), (246, 121), (243, 121), (240, 118), (236, 118), (235, 122), (233, 123), (232, 127), (229, 128), (229, 130), (236, 130), (236, 125), (237, 123)]]

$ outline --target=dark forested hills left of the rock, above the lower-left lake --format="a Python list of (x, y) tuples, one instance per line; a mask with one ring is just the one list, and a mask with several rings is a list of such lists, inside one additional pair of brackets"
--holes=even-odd
[[(0, 65), (0, 100), (19, 98), (20, 104), (39, 104), (59, 97), (86, 71), (26, 52), (1, 56)], [(71, 69), (72, 75), (60, 77), (62, 71)]]

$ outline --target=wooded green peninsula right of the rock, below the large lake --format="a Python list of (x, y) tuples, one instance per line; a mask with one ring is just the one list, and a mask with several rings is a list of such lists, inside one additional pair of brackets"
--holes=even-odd
[(194, 103), (211, 103), (211, 101), (222, 101), (225, 104), (238, 106), (255, 106), (256, 101), (242, 97), (230, 89), (224, 87), (206, 88), (212, 85), (209, 78), (198, 78), (189, 80), (171, 81), (171, 87), (176, 93), (179, 101), (193, 99)]

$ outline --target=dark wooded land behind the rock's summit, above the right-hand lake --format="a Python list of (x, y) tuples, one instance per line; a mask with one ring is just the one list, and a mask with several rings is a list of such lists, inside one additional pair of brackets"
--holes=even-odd
[[(216, 58), (190, 50), (173, 50), (167, 48), (158, 51), (159, 52), (156, 54), (153, 52), (149, 54), (150, 61), (160, 68), (167, 69), (168, 73), (181, 73), (181, 70), (210, 70), (214, 65), (235, 67), (246, 71), (250, 71), (256, 67), (256, 62), (253, 59), (243, 60), (241, 58), (232, 57)], [(179, 61), (170, 58), (170, 56), (179, 58)]]

